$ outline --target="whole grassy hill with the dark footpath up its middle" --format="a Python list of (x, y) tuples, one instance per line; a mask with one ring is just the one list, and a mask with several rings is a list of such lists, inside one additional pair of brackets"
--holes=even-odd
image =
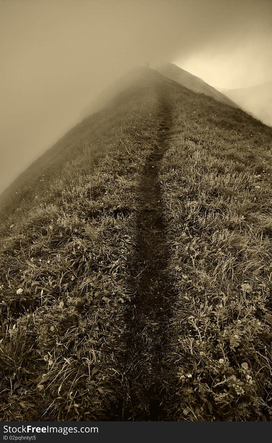
[(76, 132), (4, 213), (3, 419), (271, 420), (272, 128), (146, 69)]

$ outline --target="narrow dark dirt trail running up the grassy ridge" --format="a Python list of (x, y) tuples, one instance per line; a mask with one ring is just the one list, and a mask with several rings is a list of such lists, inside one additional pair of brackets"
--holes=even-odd
[(158, 171), (169, 148), (171, 107), (161, 97), (157, 144), (146, 161), (138, 189), (138, 255), (132, 269), (134, 300), (127, 314), (127, 352), (124, 392), (115, 420), (161, 421), (169, 396), (171, 374), (165, 345), (169, 338), (169, 317), (175, 298), (166, 269), (168, 250), (162, 217)]

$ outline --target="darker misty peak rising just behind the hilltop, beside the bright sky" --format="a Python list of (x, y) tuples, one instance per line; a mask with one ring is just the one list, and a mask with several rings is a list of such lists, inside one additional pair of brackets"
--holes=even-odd
[(171, 78), (180, 85), (185, 86), (188, 89), (192, 89), (194, 92), (203, 93), (215, 98), (217, 101), (221, 101), (226, 105), (237, 106), (232, 100), (226, 97), (223, 93), (219, 92), (217, 89), (213, 88), (208, 83), (204, 82), (199, 77), (196, 77), (190, 72), (181, 69), (174, 63), (164, 63), (158, 66), (157, 71), (163, 74), (165, 77)]

